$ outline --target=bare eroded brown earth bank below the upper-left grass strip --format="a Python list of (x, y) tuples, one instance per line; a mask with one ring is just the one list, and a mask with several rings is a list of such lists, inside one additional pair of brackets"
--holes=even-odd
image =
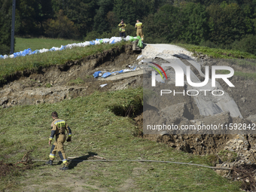
[[(25, 70), (7, 77), (7, 84), (0, 90), (0, 106), (31, 105), (44, 102), (60, 102), (77, 96), (86, 96), (96, 90), (121, 90), (141, 84), (141, 76), (119, 81), (97, 81), (96, 71), (114, 72), (133, 66), (139, 52), (131, 44), (113, 48), (92, 56), (66, 62), (61, 66)], [(107, 84), (105, 87), (99, 87)]]

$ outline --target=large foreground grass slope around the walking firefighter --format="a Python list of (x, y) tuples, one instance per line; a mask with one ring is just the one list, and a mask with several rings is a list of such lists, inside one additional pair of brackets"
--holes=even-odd
[(169, 160), (209, 165), (206, 156), (186, 154), (163, 143), (134, 137), (138, 128), (133, 120), (115, 115), (109, 106), (128, 105), (136, 96), (142, 96), (142, 88), (96, 92), (55, 104), (0, 109), (0, 157), (6, 163), (21, 160), (29, 150), (34, 150), (33, 159), (48, 160), (52, 111), (57, 111), (72, 128), (72, 142), (65, 143), (69, 157), (95, 153), (108, 160), (120, 160), (85, 161), (66, 172), (59, 171), (61, 165), (47, 166), (38, 162), (33, 169), (2, 177), (0, 190), (239, 191), (239, 183), (222, 178), (212, 169), (122, 161)]

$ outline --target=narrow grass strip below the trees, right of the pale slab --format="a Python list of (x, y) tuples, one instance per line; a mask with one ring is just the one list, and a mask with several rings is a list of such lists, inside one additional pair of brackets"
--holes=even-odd
[(239, 50), (222, 50), (222, 49), (216, 49), (216, 48), (210, 48), (210, 47), (201, 47), (198, 45), (193, 44), (176, 44), (180, 47), (184, 47), (185, 49), (194, 52), (198, 54), (204, 54), (211, 58), (219, 58), (219, 59), (231, 59), (231, 58), (238, 58), (238, 59), (256, 59), (256, 56), (247, 53), (242, 52)]

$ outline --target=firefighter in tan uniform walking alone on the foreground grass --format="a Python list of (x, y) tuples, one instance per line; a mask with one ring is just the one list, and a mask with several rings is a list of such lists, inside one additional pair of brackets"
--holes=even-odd
[[(50, 160), (47, 161), (47, 164), (53, 165), (53, 160), (55, 159), (56, 151), (58, 151), (59, 157), (62, 160), (62, 163), (64, 164), (64, 166), (60, 169), (66, 170), (66, 169), (69, 169), (69, 162), (67, 160), (67, 157), (64, 151), (63, 143), (65, 141), (71, 142), (72, 131), (65, 120), (59, 119), (56, 111), (53, 111), (51, 116), (53, 117), (53, 122), (51, 123), (52, 129), (51, 129), (51, 134), (49, 139), (49, 145), (51, 144), (54, 136), (56, 136), (56, 140), (52, 145), (52, 148), (50, 149), (50, 156), (49, 156)], [(67, 140), (66, 140), (65, 130), (69, 134), (69, 138)]]

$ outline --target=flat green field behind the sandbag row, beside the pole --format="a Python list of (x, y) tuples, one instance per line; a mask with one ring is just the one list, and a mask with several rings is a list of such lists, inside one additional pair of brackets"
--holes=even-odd
[(33, 50), (50, 49), (52, 47), (60, 47), (61, 45), (81, 43), (81, 41), (66, 40), (59, 38), (15, 38), (15, 50), (22, 51), (28, 48)]

